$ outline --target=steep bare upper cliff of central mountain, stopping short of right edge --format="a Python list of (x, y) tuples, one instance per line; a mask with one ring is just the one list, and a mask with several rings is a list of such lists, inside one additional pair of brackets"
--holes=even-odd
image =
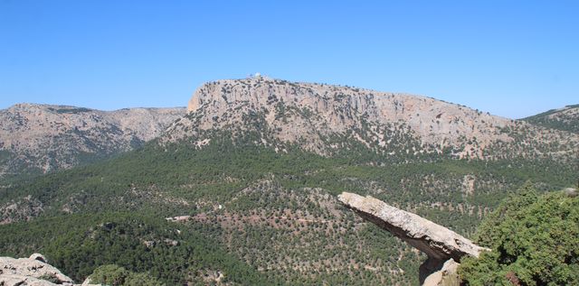
[[(269, 124), (282, 125), (276, 122), (276, 116), (281, 114), (275, 112), (275, 107), (281, 104), (286, 108), (295, 106), (298, 110), (308, 108), (312, 113), (322, 116), (309, 122), (302, 118), (291, 118), (296, 121), (294, 125), (298, 124), (296, 127), (304, 128), (299, 131), (307, 131), (305, 128), (308, 128), (308, 125), (317, 125), (315, 127), (325, 127), (315, 129), (322, 132), (346, 133), (353, 127), (361, 127), (364, 119), (369, 123), (383, 125), (403, 122), (420, 136), (424, 143), (441, 143), (443, 140), (446, 141), (445, 144), (457, 143), (461, 135), (470, 138), (486, 138), (486, 135), (492, 135), (493, 139), (497, 137), (504, 141), (509, 140), (508, 136), (495, 134), (494, 128), (487, 127), (504, 127), (510, 124), (510, 120), (480, 114), (468, 107), (433, 98), (264, 78), (220, 80), (206, 84), (195, 91), (187, 111), (195, 112), (204, 108), (213, 115), (223, 116), (229, 108), (240, 106), (241, 103), (250, 108), (254, 106), (256, 110), (262, 107), (273, 109), (266, 116)], [(218, 124), (228, 122), (231, 121)], [(214, 123), (207, 120), (202, 128), (210, 126), (214, 126)], [(299, 134), (298, 131), (292, 134), (282, 133), (280, 139), (295, 142), (299, 140)], [(380, 134), (375, 136), (377, 140), (384, 141)]]

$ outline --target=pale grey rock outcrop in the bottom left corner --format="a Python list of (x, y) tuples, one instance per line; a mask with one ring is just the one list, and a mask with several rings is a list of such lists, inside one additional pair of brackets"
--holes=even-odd
[(29, 258), (0, 257), (0, 285), (52, 286), (74, 285), (74, 282), (56, 267), (46, 263), (42, 254), (32, 254)]

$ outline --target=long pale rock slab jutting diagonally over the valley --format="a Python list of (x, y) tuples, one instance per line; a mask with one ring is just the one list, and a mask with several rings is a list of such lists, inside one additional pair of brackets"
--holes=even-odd
[[(389, 231), (404, 242), (428, 256), (420, 268), (420, 281), (424, 285), (458, 285), (441, 283), (442, 278), (456, 277), (456, 268), (463, 256), (479, 257), (488, 248), (473, 244), (468, 238), (432, 221), (394, 208), (383, 201), (343, 192), (338, 199), (360, 217), (373, 222), (376, 226)], [(445, 266), (445, 267), (443, 267)], [(429, 276), (430, 275), (430, 276)], [(428, 283), (426, 283), (428, 282)]]

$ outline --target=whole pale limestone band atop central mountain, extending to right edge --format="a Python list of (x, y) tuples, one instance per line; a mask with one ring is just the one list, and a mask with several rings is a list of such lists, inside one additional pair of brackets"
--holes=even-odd
[[(211, 140), (204, 131), (250, 130), (259, 125), (268, 131), (258, 142), (264, 145), (298, 143), (308, 151), (327, 154), (345, 147), (328, 140), (338, 135), (378, 152), (419, 154), (451, 148), (460, 158), (502, 156), (505, 148), (528, 156), (564, 156), (579, 142), (573, 143), (579, 139), (576, 134), (430, 97), (271, 78), (204, 84), (195, 91), (187, 111), (187, 118), (169, 128), (166, 141), (194, 138), (202, 146)], [(546, 148), (542, 145), (546, 140), (557, 146)]]

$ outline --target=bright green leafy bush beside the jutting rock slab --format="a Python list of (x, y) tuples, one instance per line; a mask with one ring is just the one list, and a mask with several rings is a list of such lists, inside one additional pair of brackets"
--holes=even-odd
[(538, 195), (531, 186), (509, 196), (485, 219), (475, 240), (491, 252), (466, 258), (467, 285), (578, 285), (579, 198)]

